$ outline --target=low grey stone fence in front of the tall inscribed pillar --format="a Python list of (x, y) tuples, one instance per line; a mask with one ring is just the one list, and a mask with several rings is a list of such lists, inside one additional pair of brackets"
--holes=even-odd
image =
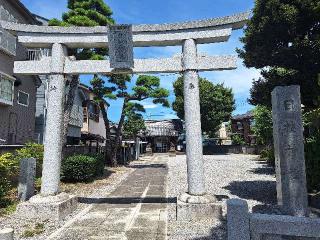
[(246, 201), (227, 201), (228, 240), (281, 240), (281, 236), (319, 238), (320, 219), (251, 214)]

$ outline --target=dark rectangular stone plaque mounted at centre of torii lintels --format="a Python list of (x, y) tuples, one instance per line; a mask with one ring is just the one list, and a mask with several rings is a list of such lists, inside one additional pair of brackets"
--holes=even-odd
[(133, 39), (131, 25), (113, 25), (109, 27), (110, 67), (114, 69), (132, 69)]

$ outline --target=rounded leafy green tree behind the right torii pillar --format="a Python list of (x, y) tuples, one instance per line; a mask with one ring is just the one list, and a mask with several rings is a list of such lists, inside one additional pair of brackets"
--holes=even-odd
[[(184, 119), (183, 78), (179, 77), (173, 87), (176, 96), (173, 110)], [(228, 121), (235, 109), (232, 89), (223, 84), (214, 85), (205, 78), (199, 79), (199, 88), (202, 131), (214, 137), (221, 123)]]

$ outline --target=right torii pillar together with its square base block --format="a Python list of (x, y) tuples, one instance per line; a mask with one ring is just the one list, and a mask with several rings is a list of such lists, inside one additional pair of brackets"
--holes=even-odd
[(205, 188), (196, 41), (185, 40), (182, 49), (188, 192), (178, 199), (177, 220), (219, 219), (222, 207)]

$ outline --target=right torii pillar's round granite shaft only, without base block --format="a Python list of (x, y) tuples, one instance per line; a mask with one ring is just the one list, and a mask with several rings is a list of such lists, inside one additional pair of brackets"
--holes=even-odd
[(188, 193), (205, 195), (203, 172), (202, 134), (199, 97), (199, 74), (197, 71), (197, 45), (189, 39), (183, 43), (184, 111), (186, 123)]

